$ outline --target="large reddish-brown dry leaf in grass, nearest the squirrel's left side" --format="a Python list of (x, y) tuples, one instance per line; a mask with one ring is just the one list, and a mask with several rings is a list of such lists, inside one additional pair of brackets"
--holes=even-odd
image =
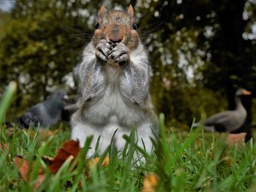
[(59, 171), (59, 168), (64, 164), (64, 162), (69, 158), (70, 155), (76, 158), (78, 153), (80, 152), (80, 146), (78, 141), (69, 140), (64, 142), (59, 153), (50, 161), (48, 168), (53, 174)]

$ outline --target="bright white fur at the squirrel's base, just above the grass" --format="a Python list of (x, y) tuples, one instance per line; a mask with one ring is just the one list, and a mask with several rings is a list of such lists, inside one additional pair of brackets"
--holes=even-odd
[[(137, 145), (142, 148), (144, 148), (144, 145), (145, 145), (146, 147), (145, 150), (148, 153), (151, 153), (153, 149), (153, 145), (151, 143), (150, 137), (154, 138), (154, 134), (151, 131), (151, 125), (148, 123), (143, 123), (136, 130), (137, 131), (135, 134), (136, 135), (138, 134), (138, 139), (136, 139), (135, 142), (137, 142)], [(113, 137), (113, 134), (115, 131), (116, 131), (116, 134)], [(118, 124), (116, 123), (109, 123), (108, 125), (105, 125), (103, 127), (93, 126), (87, 123), (77, 123), (72, 128), (71, 139), (78, 139), (80, 142), (80, 147), (83, 147), (86, 142), (86, 138), (89, 136), (93, 136), (93, 140), (91, 142), (91, 149), (87, 153), (88, 156), (91, 156), (95, 152), (95, 147), (96, 147), (97, 139), (99, 138), (99, 136), (100, 136), (100, 140), (99, 140), (99, 146), (98, 146), (97, 152), (99, 153), (104, 152), (105, 149), (110, 145), (112, 138), (113, 138), (113, 144), (116, 146), (117, 150), (121, 151), (124, 148), (124, 145), (126, 142), (123, 136), (125, 134), (129, 135), (130, 131), (131, 129), (122, 128), (118, 126)]]

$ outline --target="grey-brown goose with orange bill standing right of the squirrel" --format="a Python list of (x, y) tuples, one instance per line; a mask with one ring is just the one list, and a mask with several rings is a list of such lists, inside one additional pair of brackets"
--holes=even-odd
[(245, 120), (247, 112), (241, 103), (241, 96), (251, 95), (252, 93), (246, 91), (245, 89), (238, 89), (236, 91), (236, 110), (228, 110), (224, 112), (219, 112), (207, 118), (204, 122), (206, 131), (235, 131), (240, 128)]

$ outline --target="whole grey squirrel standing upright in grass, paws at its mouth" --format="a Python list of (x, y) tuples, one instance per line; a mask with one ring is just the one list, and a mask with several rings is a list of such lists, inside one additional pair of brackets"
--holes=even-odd
[(124, 134), (135, 127), (137, 145), (151, 153), (150, 138), (159, 134), (158, 119), (149, 93), (152, 76), (148, 54), (136, 31), (134, 9), (99, 10), (94, 36), (83, 50), (78, 66), (78, 110), (72, 115), (71, 139), (83, 147), (93, 135), (94, 154), (102, 153), (113, 140), (118, 151)]

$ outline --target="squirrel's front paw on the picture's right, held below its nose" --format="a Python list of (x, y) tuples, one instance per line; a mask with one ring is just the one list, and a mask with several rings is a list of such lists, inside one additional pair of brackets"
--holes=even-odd
[(118, 43), (111, 45), (111, 47), (113, 49), (108, 53), (108, 59), (119, 65), (129, 63), (129, 48), (126, 45)]

